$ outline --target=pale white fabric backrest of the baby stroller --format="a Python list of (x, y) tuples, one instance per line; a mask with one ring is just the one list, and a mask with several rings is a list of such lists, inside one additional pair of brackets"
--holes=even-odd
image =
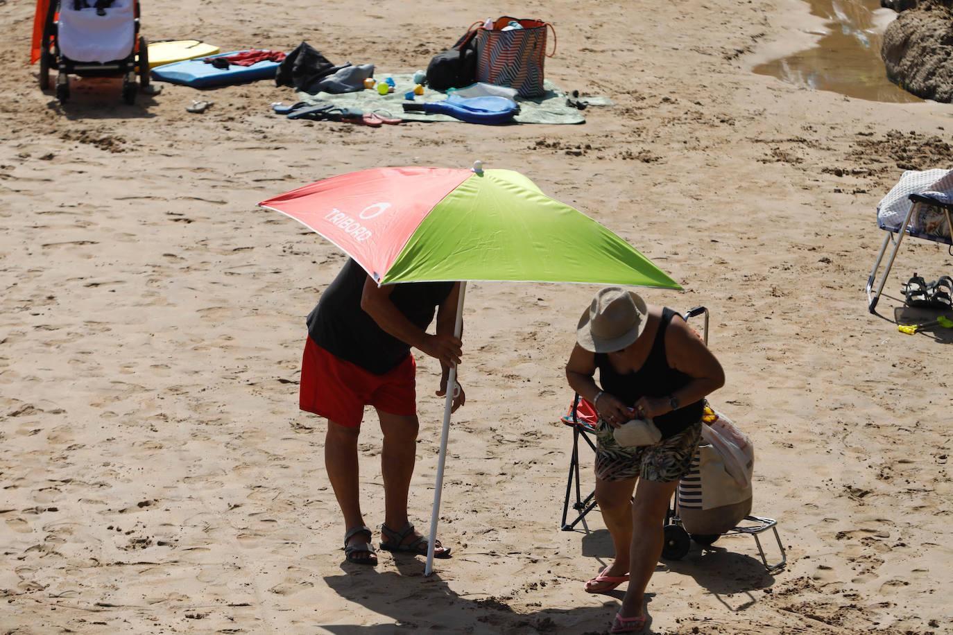
[(135, 47), (133, 0), (114, 0), (106, 15), (93, 7), (73, 9), (72, 0), (60, 3), (56, 37), (60, 54), (73, 62), (115, 62)]

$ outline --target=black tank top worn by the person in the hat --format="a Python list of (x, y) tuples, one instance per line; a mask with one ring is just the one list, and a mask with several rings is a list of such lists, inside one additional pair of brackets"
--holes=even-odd
[[(642, 367), (635, 372), (618, 373), (606, 353), (596, 353), (599, 384), (603, 390), (616, 396), (626, 406), (634, 407), (640, 397), (668, 397), (692, 381), (691, 375), (670, 367), (665, 355), (665, 330), (676, 315), (678, 313), (671, 308), (662, 308), (659, 330), (652, 343), (652, 350)], [(672, 437), (698, 422), (703, 410), (704, 400), (687, 404), (677, 410), (660, 414), (654, 419), (655, 425), (659, 428), (662, 438)]]

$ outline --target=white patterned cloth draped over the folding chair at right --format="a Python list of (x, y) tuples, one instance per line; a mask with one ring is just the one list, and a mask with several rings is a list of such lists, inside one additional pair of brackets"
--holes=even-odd
[[(923, 194), (943, 203), (953, 201), (953, 169), (910, 169), (903, 172), (897, 182), (877, 206), (877, 226), (889, 231), (900, 230), (906, 214), (913, 205), (910, 194)], [(946, 217), (942, 213), (933, 213), (926, 206), (923, 214), (914, 214), (910, 218), (907, 232), (913, 236), (929, 237), (933, 240), (950, 241), (949, 228), (945, 227)]]

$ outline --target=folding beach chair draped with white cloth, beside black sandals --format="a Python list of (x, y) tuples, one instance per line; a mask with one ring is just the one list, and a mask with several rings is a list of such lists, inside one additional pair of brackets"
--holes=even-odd
[[(867, 278), (868, 310), (873, 313), (886, 284), (887, 275), (893, 267), (903, 236), (930, 240), (949, 246), (953, 255), (953, 169), (907, 170), (900, 181), (877, 206), (877, 226), (887, 232), (874, 268)], [(901, 230), (902, 229), (902, 230)], [(887, 246), (893, 243), (887, 258), (880, 284), (877, 284), (877, 269), (880, 268)], [(874, 286), (877, 290), (874, 291)]]

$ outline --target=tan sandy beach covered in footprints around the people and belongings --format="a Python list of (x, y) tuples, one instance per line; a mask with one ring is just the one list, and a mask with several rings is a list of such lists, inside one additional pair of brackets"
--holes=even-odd
[[(471, 283), (438, 535), (454, 557), (343, 562), (324, 422), (297, 408), (304, 318), (344, 255), (256, 204), (380, 166), (518, 169), (638, 248), (711, 311), (712, 404), (756, 446), (750, 536), (660, 562), (646, 632), (953, 633), (953, 331), (899, 332), (900, 286), (953, 275), (904, 241), (878, 306), (876, 206), (953, 167), (949, 105), (889, 104), (751, 72), (810, 43), (795, 0), (143, 3), (149, 40), (293, 50), (413, 72), (476, 20), (550, 21), (546, 76), (610, 98), (577, 126), (296, 122), (272, 81), (164, 84), (134, 106), (30, 67), (33, 6), (0, 0), (0, 633), (603, 633), (622, 590), (598, 511), (560, 531), (586, 285)], [(186, 111), (193, 100), (213, 105)], [(429, 524), (439, 367), (417, 355), (411, 517)], [(380, 432), (361, 441), (383, 521)], [(584, 483), (591, 453), (584, 448)], [(586, 480), (586, 479), (589, 480)], [(377, 536), (375, 535), (375, 540)], [(770, 533), (761, 534), (777, 559)]]

